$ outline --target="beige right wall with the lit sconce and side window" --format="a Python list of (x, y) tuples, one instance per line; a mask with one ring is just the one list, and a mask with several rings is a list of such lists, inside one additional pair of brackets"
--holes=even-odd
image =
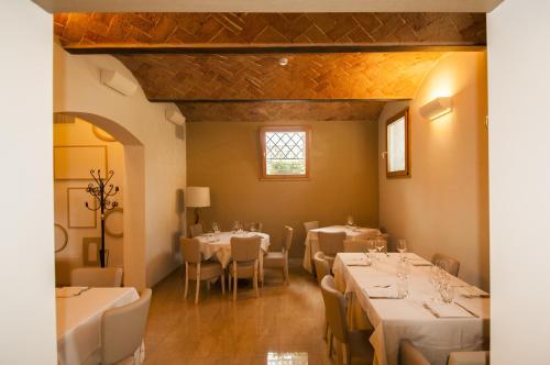
[[(446, 55), (410, 102), (411, 177), (387, 179), (380, 157), (380, 220), (391, 240), (405, 239), (430, 258), (442, 252), (461, 262), (460, 277), (488, 288), (488, 193), (486, 56)], [(453, 96), (453, 112), (426, 120), (419, 108)], [(386, 106), (380, 118), (380, 152), (385, 122), (406, 102)]]

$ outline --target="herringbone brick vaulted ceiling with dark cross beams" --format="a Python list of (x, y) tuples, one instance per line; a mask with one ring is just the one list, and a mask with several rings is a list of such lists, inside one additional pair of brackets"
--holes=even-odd
[(372, 119), (443, 52), (486, 43), (482, 13), (58, 13), (54, 33), (112, 54), (190, 121)]

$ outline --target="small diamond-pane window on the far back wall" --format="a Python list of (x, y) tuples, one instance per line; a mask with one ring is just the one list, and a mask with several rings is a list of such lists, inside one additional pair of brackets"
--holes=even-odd
[(309, 177), (309, 129), (270, 126), (262, 129), (263, 178)]

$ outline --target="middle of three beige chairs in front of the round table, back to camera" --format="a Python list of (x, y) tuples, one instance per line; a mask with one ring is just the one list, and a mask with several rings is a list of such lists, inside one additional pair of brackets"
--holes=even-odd
[[(258, 258), (262, 237), (231, 237), (231, 263), (229, 264), (230, 288), (233, 286), (233, 300), (237, 300), (237, 287), (239, 278), (252, 278), (256, 297)], [(232, 278), (232, 281), (231, 281)]]

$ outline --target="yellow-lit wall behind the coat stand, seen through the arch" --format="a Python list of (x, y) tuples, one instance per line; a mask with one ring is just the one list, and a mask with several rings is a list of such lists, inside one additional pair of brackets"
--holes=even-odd
[[(123, 187), (124, 187), (124, 151), (120, 142), (106, 142), (98, 139), (91, 131), (92, 124), (76, 118), (74, 123), (56, 123), (54, 124), (54, 146), (106, 146), (109, 169), (114, 172), (111, 184), (118, 186), (120, 191), (114, 197), (120, 208), (123, 204)], [(72, 155), (82, 155), (86, 150), (72, 148)], [(70, 168), (70, 166), (68, 166)], [(86, 169), (98, 168), (98, 166), (86, 166)], [(102, 175), (105, 168), (102, 169)], [(54, 181), (54, 208), (55, 208), (55, 222), (63, 225), (67, 231), (68, 243), (67, 246), (55, 254), (55, 279), (56, 285), (68, 285), (70, 283), (70, 269), (74, 267), (82, 266), (82, 237), (100, 237), (101, 236), (101, 220), (100, 213), (96, 212), (97, 226), (90, 229), (69, 228), (68, 211), (73, 211), (73, 217), (80, 218), (75, 213), (84, 213), (82, 221), (92, 212), (85, 209), (77, 209), (78, 207), (68, 207), (67, 189), (68, 188), (86, 188), (90, 180), (55, 180)], [(81, 201), (84, 206), (86, 200)], [(80, 206), (80, 208), (82, 208)], [(81, 215), (81, 214), (80, 214)], [(116, 214), (109, 218), (108, 226), (112, 232), (122, 232), (122, 215)], [(74, 225), (74, 224), (73, 224)], [(57, 237), (58, 239), (58, 237)], [(109, 250), (109, 266), (123, 266), (122, 256), (122, 237), (112, 237), (106, 234), (106, 248)]]

